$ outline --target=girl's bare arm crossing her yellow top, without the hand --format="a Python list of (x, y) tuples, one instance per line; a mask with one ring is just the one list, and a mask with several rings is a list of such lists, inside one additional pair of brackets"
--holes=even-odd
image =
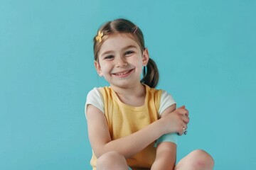
[(105, 114), (95, 106), (87, 106), (88, 136), (96, 157), (110, 151), (117, 151), (127, 158), (132, 157), (161, 135), (167, 133), (165, 124), (166, 120), (157, 120), (132, 135), (112, 140)]

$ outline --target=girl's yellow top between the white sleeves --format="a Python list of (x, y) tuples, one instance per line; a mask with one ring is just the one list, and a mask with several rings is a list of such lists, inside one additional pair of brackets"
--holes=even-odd
[[(146, 85), (145, 85), (146, 86)], [(144, 106), (129, 106), (119, 100), (110, 87), (100, 88), (103, 97), (105, 117), (112, 140), (130, 135), (159, 119), (161, 90), (146, 86)], [(141, 152), (127, 159), (130, 167), (150, 168), (156, 157), (154, 142)], [(92, 152), (91, 165), (96, 169), (97, 158)]]

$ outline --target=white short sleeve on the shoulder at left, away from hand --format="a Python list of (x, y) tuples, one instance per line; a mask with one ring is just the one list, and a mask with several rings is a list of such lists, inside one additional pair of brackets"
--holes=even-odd
[(85, 117), (86, 117), (87, 105), (89, 104), (95, 106), (96, 108), (100, 109), (102, 113), (104, 113), (104, 104), (103, 104), (102, 94), (99, 88), (94, 88), (87, 94), (86, 103), (85, 103)]

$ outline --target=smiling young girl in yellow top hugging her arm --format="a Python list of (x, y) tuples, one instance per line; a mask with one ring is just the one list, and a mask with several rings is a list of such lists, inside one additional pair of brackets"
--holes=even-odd
[(92, 89), (85, 103), (92, 169), (213, 169), (212, 157), (200, 149), (176, 164), (176, 138), (186, 135), (188, 110), (154, 89), (159, 73), (139, 27), (125, 19), (105, 23), (94, 55), (110, 86)]

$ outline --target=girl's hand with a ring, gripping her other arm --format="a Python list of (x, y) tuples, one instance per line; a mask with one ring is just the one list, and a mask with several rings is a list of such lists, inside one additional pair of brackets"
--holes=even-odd
[(185, 106), (177, 108), (175, 111), (164, 115), (160, 120), (164, 122), (164, 128), (166, 133), (178, 133), (183, 135), (183, 128), (188, 128), (188, 110)]

